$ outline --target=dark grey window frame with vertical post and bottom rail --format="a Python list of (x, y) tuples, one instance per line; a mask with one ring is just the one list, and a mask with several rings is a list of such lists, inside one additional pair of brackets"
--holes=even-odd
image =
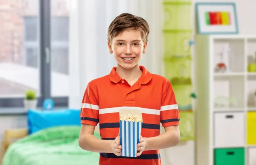
[[(51, 43), (51, 0), (38, 0), (39, 2), (39, 58), (40, 58), (40, 96), (38, 96), (38, 107), (43, 106), (43, 101), (46, 98), (51, 98), (54, 101), (55, 107), (67, 107), (68, 96), (52, 97), (51, 96), (51, 45), (56, 44), (55, 41)], [(25, 28), (24, 28), (25, 29)], [(25, 31), (25, 30), (24, 30)], [(35, 43), (24, 43), (24, 51), (26, 46), (34, 47)], [(57, 43), (58, 45), (58, 43)], [(61, 46), (68, 45), (68, 43), (61, 42)], [(67, 47), (68, 48), (68, 47)], [(17, 108), (24, 107), (24, 97), (6, 97), (0, 98), (0, 108)]]

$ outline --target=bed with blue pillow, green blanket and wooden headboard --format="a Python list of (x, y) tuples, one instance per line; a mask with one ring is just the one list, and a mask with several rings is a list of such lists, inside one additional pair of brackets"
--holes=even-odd
[[(80, 113), (70, 115), (69, 110), (66, 112), (65, 118), (59, 115), (60, 112), (51, 112), (55, 116), (52, 117), (50, 112), (51, 115), (45, 115), (46, 112), (33, 110), (28, 113), (28, 128), (6, 130), (2, 165), (98, 165), (99, 153), (79, 147), (81, 125), (71, 120), (75, 116), (77, 119)], [(61, 118), (64, 123), (56, 122), (54, 118)], [(94, 136), (100, 138), (98, 132)], [(19, 140), (11, 143), (13, 138)]]

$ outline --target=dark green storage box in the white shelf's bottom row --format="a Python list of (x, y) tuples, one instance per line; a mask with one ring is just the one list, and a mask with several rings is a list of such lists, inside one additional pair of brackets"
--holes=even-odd
[(215, 149), (214, 159), (214, 165), (244, 165), (244, 148)]

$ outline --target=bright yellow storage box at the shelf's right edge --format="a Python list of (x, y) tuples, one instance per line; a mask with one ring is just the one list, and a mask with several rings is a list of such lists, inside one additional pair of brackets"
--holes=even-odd
[(247, 144), (256, 145), (256, 112), (247, 112)]

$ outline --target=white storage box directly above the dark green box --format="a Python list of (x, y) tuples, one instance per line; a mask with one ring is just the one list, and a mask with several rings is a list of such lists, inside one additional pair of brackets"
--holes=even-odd
[(244, 112), (215, 113), (214, 146), (244, 146)]

